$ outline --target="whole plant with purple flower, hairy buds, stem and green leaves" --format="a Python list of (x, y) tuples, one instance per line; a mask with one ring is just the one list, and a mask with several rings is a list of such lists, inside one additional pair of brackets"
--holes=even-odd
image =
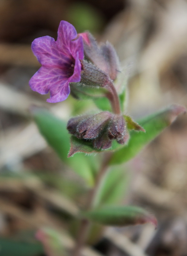
[[(60, 22), (56, 41), (50, 36), (36, 38), (32, 50), (42, 65), (30, 79), (33, 91), (50, 92), (47, 99), (50, 103), (66, 100), (71, 91), (77, 100), (92, 99), (98, 108), (95, 113), (70, 118), (67, 125), (46, 110), (33, 110), (36, 124), (45, 139), (58, 156), (82, 176), (89, 188), (87, 203), (74, 216), (79, 219), (80, 229), (76, 234), (73, 255), (81, 254), (90, 232), (97, 232), (93, 231), (94, 228), (89, 230), (90, 220), (101, 225), (151, 222), (156, 226), (156, 218), (144, 209), (116, 205), (124, 194), (124, 186), (116, 190), (117, 180), (125, 179), (119, 164), (136, 156), (177, 115), (185, 112), (185, 108), (172, 105), (138, 123), (126, 116), (125, 77), (113, 46), (108, 42), (98, 45), (89, 32), (77, 35), (74, 26), (66, 21)], [(90, 155), (93, 152), (100, 154)], [(117, 164), (118, 167), (109, 168)], [(108, 180), (113, 180), (113, 184), (107, 184)]]

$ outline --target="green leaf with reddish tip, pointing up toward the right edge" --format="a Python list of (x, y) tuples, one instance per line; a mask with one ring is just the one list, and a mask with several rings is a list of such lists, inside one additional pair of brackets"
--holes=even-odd
[(114, 152), (110, 164), (120, 164), (136, 156), (147, 143), (158, 136), (179, 114), (185, 111), (186, 108), (183, 106), (172, 105), (138, 121), (138, 124), (143, 126), (146, 132), (131, 131), (129, 143)]

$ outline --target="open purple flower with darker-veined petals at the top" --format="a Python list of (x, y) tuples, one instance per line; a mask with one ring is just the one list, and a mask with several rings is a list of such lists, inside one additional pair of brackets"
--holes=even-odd
[(31, 89), (41, 94), (50, 91), (48, 102), (66, 100), (70, 93), (69, 83), (81, 80), (82, 36), (77, 38), (74, 26), (62, 20), (57, 41), (50, 36), (42, 36), (33, 41), (31, 48), (42, 64), (29, 81)]

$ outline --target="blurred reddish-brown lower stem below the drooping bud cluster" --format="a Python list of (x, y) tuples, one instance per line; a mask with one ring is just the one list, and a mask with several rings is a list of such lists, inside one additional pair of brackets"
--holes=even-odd
[[(101, 168), (99, 170), (99, 172), (97, 173), (97, 177), (96, 177), (96, 181), (95, 181), (95, 186), (94, 188), (92, 188), (90, 190), (90, 193), (88, 195), (87, 198), (87, 203), (85, 205), (85, 210), (88, 211), (92, 208), (92, 204), (94, 202), (94, 198), (96, 196), (97, 193), (97, 189), (99, 187), (100, 181), (102, 179), (102, 177), (104, 176), (105, 172), (108, 169), (108, 163), (111, 159), (112, 153), (107, 153), (106, 157), (104, 157), (104, 161), (101, 165)], [(72, 256), (80, 256), (81, 255), (81, 250), (86, 242), (87, 239), (87, 235), (89, 232), (89, 228), (90, 228), (90, 221), (87, 219), (82, 219), (81, 220), (81, 224), (80, 224), (80, 228), (79, 228), (79, 233), (78, 233), (78, 237), (77, 237), (77, 242), (74, 248), (74, 252)]]

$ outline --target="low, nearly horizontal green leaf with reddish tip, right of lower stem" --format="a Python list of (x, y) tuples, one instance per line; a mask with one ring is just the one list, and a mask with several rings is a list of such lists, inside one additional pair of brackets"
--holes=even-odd
[(92, 221), (107, 226), (127, 226), (151, 222), (155, 227), (156, 218), (137, 206), (105, 206), (83, 214)]

